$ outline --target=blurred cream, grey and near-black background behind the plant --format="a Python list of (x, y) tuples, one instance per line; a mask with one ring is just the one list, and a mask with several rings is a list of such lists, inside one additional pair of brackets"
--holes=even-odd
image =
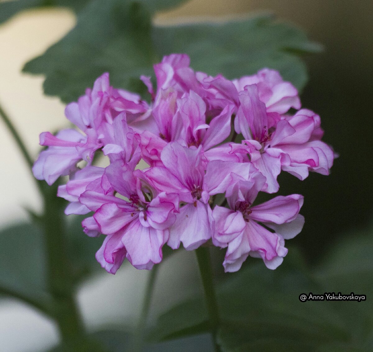
[[(323, 140), (340, 157), (329, 177), (311, 174), (300, 182), (281, 175), (279, 180), (282, 194), (305, 196), (304, 230), (291, 242), (313, 266), (347, 234), (372, 223), (373, 2), (192, 0), (158, 13), (154, 21), (175, 24), (263, 11), (303, 28), (325, 48), (304, 58), (310, 79), (301, 100), (303, 107), (319, 113)], [(66, 125), (64, 105), (58, 98), (43, 95), (43, 77), (22, 74), (21, 69), (74, 25), (73, 12), (45, 9), (21, 13), (0, 27), (0, 102), (34, 157), (40, 132)], [(5, 227), (28, 218), (23, 206), (40, 210), (41, 200), (18, 148), (2, 122), (0, 126), (0, 226)], [(147, 274), (125, 266), (115, 276), (101, 272), (85, 283), (78, 300), (88, 327), (136, 317)], [(151, 316), (199, 290), (197, 277), (194, 253), (182, 251), (167, 260), (159, 273)], [(165, 285), (176, 289), (165, 294)], [(16, 300), (0, 301), (1, 352), (42, 351), (57, 341), (52, 321)]]

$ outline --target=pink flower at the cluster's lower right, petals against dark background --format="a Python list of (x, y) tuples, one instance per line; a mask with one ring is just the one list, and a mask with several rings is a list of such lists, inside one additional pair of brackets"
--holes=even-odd
[(262, 258), (267, 268), (276, 269), (288, 252), (284, 239), (293, 238), (303, 227), (304, 218), (299, 215), (303, 196), (299, 194), (278, 196), (253, 206), (263, 183), (260, 177), (254, 177), (254, 184), (238, 180), (226, 194), (230, 209), (216, 206), (213, 210), (213, 243), (228, 247), (223, 262), (226, 272), (239, 270), (249, 255)]

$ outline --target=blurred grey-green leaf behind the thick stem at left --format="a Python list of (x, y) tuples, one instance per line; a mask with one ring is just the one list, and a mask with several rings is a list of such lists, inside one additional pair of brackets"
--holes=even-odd
[[(95, 252), (102, 239), (87, 237), (80, 222), (80, 217), (70, 219), (66, 243), (76, 283), (101, 269), (95, 260)], [(23, 299), (34, 306), (49, 305), (47, 309), (51, 308), (42, 228), (21, 223), (1, 230), (0, 238), (0, 294)]]

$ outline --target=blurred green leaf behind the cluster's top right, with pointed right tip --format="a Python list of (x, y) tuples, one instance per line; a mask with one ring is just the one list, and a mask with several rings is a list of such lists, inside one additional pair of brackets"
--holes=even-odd
[(191, 66), (210, 75), (222, 73), (229, 79), (269, 67), (298, 88), (307, 81), (304, 62), (294, 53), (318, 52), (320, 46), (307, 40), (304, 32), (262, 15), (217, 24), (189, 24), (153, 28), (154, 47), (160, 55), (185, 52)]

